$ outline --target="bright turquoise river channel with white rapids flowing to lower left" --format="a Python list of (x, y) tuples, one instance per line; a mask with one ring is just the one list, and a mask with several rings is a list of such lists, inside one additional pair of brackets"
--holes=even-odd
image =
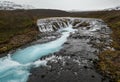
[(59, 51), (70, 32), (74, 31), (72, 26), (63, 28), (59, 30), (62, 36), (55, 41), (29, 46), (16, 51), (12, 56), (0, 58), (0, 82), (27, 82), (30, 69), (46, 63), (39, 58)]

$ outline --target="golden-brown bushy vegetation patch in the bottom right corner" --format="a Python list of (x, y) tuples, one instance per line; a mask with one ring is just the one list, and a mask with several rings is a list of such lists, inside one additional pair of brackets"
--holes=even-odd
[(120, 51), (106, 50), (99, 55), (98, 67), (116, 82), (120, 80)]

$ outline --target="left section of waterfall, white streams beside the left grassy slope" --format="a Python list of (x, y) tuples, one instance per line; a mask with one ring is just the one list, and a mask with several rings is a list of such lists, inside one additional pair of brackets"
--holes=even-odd
[[(70, 19), (70, 18), (68, 18), (68, 17), (66, 17), (66, 18), (53, 18), (53, 19), (49, 18), (49, 19), (38, 20), (37, 24), (39, 27), (39, 31), (40, 32), (52, 32), (52, 31), (57, 30), (58, 28), (59, 29), (66, 28), (69, 25), (71, 25), (69, 23), (70, 21), (65, 21), (66, 19)], [(50, 21), (47, 21), (47, 20), (50, 20)], [(54, 23), (56, 23), (57, 25), (54, 25)], [(43, 27), (44, 24), (46, 25), (46, 29)]]

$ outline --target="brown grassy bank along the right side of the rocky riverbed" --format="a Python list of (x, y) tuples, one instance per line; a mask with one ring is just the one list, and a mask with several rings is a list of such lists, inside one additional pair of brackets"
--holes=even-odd
[(112, 29), (111, 47), (115, 50), (109, 49), (99, 55), (98, 68), (115, 82), (120, 82), (120, 11), (76, 12), (74, 16), (100, 18)]

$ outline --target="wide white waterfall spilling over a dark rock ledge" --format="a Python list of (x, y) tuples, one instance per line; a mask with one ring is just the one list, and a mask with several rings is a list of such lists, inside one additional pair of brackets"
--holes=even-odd
[(71, 18), (71, 17), (57, 17), (57, 18), (46, 18), (39, 19), (37, 25), (40, 32), (53, 32), (62, 28), (66, 28), (69, 25), (73, 27), (79, 27), (82, 23), (94, 24), (95, 21), (83, 18)]

